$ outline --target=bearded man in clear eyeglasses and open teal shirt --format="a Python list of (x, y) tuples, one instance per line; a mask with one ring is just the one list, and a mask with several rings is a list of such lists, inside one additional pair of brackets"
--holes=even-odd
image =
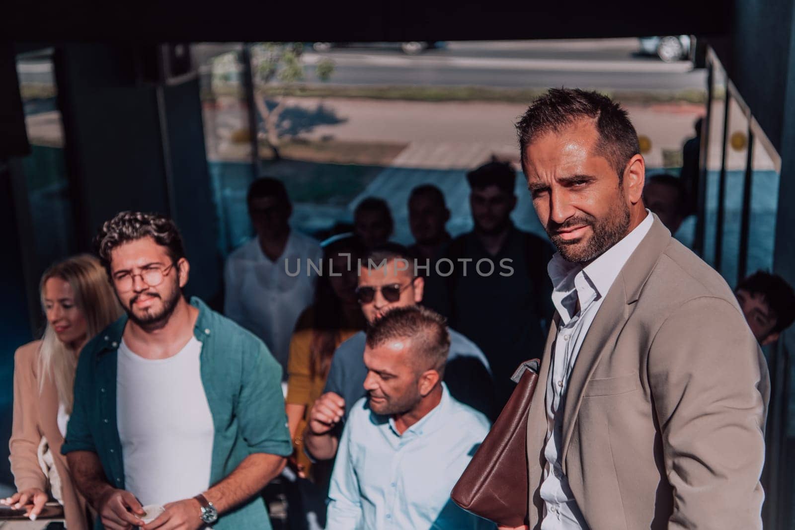
[(95, 528), (270, 528), (257, 493), (293, 451), (281, 367), (185, 300), (190, 265), (170, 219), (122, 212), (96, 244), (126, 315), (80, 354), (62, 448)]

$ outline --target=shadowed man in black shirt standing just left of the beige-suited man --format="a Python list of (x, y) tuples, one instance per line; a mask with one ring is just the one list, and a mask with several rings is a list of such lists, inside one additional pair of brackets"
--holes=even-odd
[[(455, 266), (448, 277), (429, 277), (428, 306), (448, 317), (450, 327), (466, 333), (486, 354), (494, 374), (495, 405), (502, 410), (522, 362), (541, 357), (545, 325), (554, 308), (546, 264), (553, 250), (545, 239), (518, 230), (510, 219), (516, 207), (516, 172), (492, 159), (467, 173), (475, 229), (453, 239), (444, 257)], [(468, 260), (464, 264), (460, 260)], [(491, 261), (483, 276), (475, 265)], [(500, 273), (503, 260), (512, 273)], [(466, 268), (464, 265), (468, 265)], [(484, 271), (489, 266), (483, 265)]]

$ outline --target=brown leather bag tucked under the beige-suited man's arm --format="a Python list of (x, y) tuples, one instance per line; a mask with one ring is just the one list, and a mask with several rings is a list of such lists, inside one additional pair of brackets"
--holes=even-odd
[(467, 512), (504, 526), (528, 524), (527, 413), (541, 361), (523, 362), (518, 383), (450, 497)]

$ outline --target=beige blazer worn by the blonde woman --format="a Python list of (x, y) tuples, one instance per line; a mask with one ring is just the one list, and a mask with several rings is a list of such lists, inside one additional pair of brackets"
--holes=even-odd
[(58, 392), (52, 378), (47, 377), (43, 391), (39, 392), (39, 346), (41, 341), (29, 342), (14, 354), (14, 423), (9, 442), (11, 472), (18, 491), (28, 488), (48, 491), (48, 481), (37, 456), (44, 436), (60, 477), (66, 525), (69, 530), (87, 530), (86, 501), (77, 493), (66, 457), (60, 454), (64, 436), (58, 429)]

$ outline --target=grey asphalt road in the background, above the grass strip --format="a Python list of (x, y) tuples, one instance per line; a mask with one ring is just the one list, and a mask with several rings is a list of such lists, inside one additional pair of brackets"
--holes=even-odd
[(304, 54), (310, 65), (324, 57), (336, 64), (334, 84), (683, 90), (704, 89), (706, 82), (706, 73), (691, 71), (686, 61), (640, 56), (634, 39), (449, 43), (418, 56), (394, 47)]

